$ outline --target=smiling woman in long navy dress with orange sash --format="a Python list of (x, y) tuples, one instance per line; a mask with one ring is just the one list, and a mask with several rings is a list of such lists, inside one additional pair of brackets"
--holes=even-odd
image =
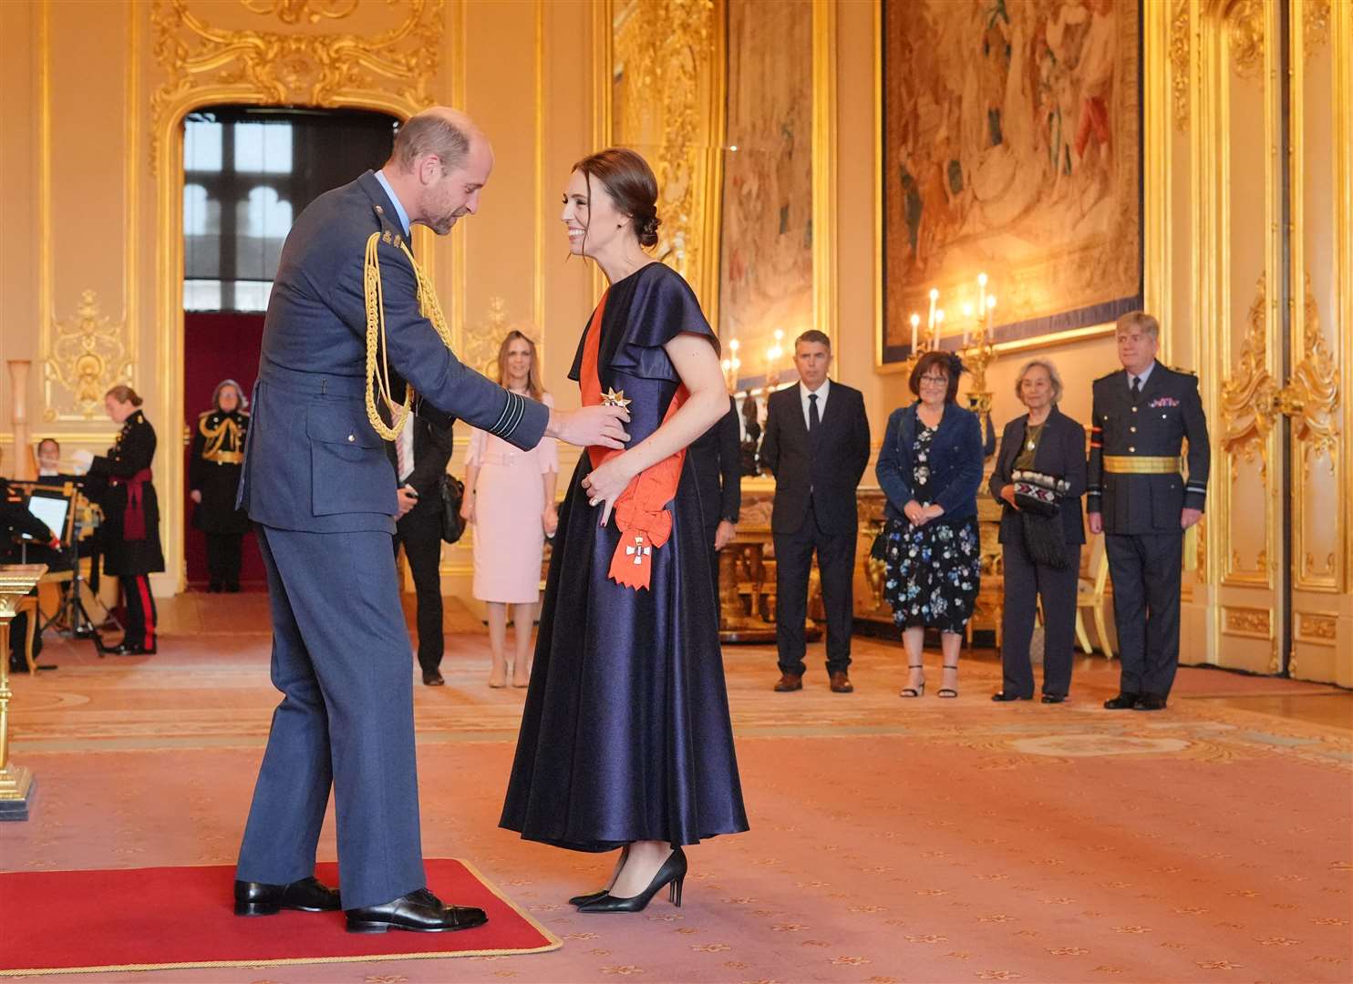
[(747, 830), (718, 647), (705, 518), (686, 447), (728, 411), (718, 343), (658, 242), (658, 182), (630, 150), (575, 165), (563, 222), (609, 289), (570, 378), (628, 407), (624, 451), (590, 447), (559, 510), (536, 661), (502, 826), (620, 850), (582, 912), (639, 911), (683, 845)]

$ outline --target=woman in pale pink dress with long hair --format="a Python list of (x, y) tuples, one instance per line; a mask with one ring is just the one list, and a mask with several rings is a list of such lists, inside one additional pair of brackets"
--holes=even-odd
[[(540, 383), (536, 345), (510, 331), (498, 349), (498, 378), (514, 393), (555, 401)], [(475, 527), (474, 593), (488, 606), (490, 687), (507, 685), (507, 606), (517, 626), (517, 653), (511, 684), (530, 681), (530, 630), (540, 604), (540, 562), (545, 537), (555, 535), (555, 485), (559, 454), (553, 438), (543, 438), (529, 451), (518, 450), (487, 431), (474, 430), (465, 456), (463, 515)]]

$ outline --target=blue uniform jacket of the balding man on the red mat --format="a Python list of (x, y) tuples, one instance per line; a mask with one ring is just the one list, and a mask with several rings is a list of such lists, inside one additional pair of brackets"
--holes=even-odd
[(418, 308), (403, 230), (376, 176), (315, 199), (281, 250), (264, 323), (239, 480), (250, 519), (281, 530), (394, 531), (394, 469), (367, 419), (367, 239), (382, 232), (387, 355), (425, 404), (522, 447), (549, 420), (540, 403), (467, 369)]

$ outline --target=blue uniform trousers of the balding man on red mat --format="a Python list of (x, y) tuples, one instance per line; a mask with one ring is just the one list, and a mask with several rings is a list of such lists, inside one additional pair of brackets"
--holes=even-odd
[(333, 785), (344, 908), (426, 885), (418, 830), (410, 645), (391, 537), (257, 526), (283, 692), (237, 877), (314, 875)]

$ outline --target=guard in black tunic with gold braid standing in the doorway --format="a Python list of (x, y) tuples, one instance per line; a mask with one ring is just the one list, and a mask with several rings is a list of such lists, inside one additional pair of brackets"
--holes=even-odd
[(198, 503), (193, 527), (207, 534), (207, 591), (239, 591), (241, 543), (249, 515), (235, 508), (239, 469), (245, 460), (249, 412), (234, 380), (216, 385), (214, 410), (198, 416), (188, 461), (188, 487)]

